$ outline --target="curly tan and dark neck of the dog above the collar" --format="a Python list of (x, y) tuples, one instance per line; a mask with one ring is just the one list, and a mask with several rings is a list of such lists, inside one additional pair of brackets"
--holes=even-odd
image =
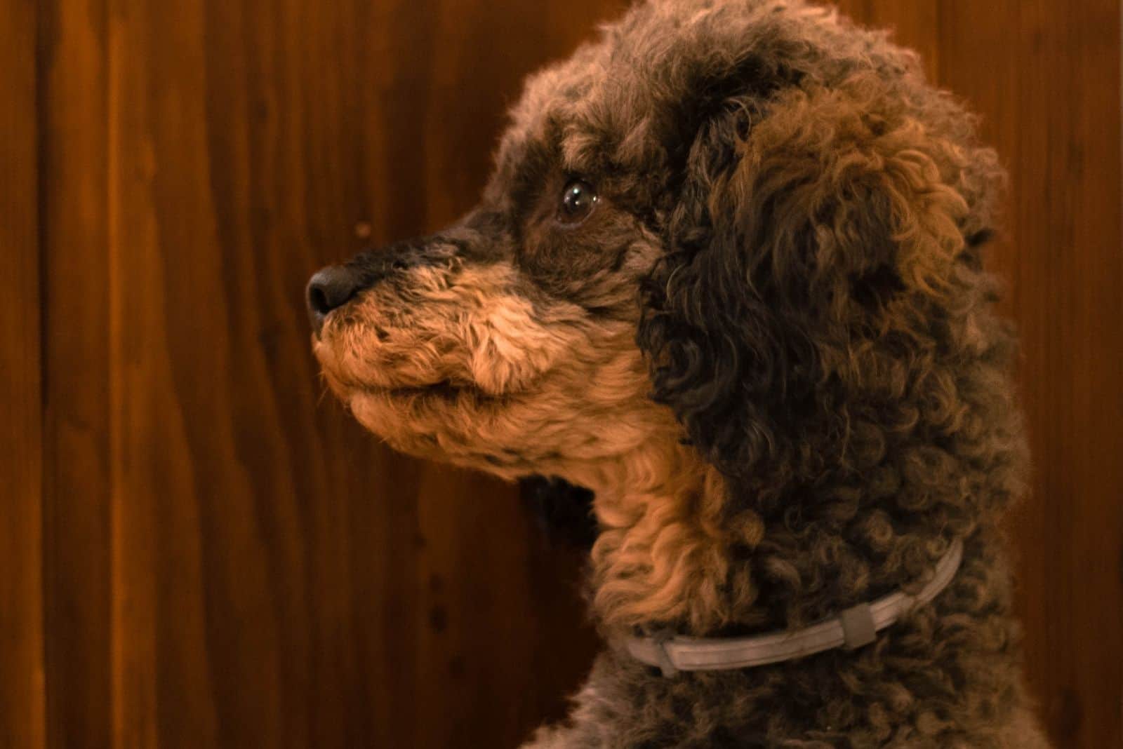
[[(884, 537), (897, 546), (879, 548), (883, 514), (839, 492), (816, 498), (816, 512), (809, 514), (815, 517), (802, 525), (794, 506), (769, 512), (733, 501), (722, 474), (677, 441), (652, 442), (574, 479), (596, 492), (592, 602), (608, 637), (805, 627), (915, 584), (951, 543), (934, 523), (931, 533), (919, 524), (906, 545), (886, 528)], [(843, 511), (865, 533), (825, 555), (813, 548), (818, 538), (839, 536), (816, 524)]]

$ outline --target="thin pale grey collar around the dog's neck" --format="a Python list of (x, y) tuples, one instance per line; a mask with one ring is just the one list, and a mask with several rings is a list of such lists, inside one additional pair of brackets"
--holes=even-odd
[(650, 637), (629, 637), (623, 645), (633, 658), (663, 669), (664, 676), (674, 676), (681, 671), (764, 666), (839, 647), (852, 650), (869, 645), (877, 639), (877, 632), (935, 598), (955, 577), (962, 556), (964, 545), (957, 538), (937, 563), (932, 580), (915, 595), (897, 591), (794, 632), (721, 638), (660, 632)]

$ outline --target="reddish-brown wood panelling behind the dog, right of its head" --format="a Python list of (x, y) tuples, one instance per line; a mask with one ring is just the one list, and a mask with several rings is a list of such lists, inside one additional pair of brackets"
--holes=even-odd
[(1012, 519), (1028, 675), (1056, 746), (1123, 743), (1120, 4), (941, 4), (941, 81), (1008, 166), (1010, 281), (1033, 456)]

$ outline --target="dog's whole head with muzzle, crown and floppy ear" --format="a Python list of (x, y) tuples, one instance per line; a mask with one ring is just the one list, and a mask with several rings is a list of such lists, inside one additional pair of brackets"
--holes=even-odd
[[(798, 0), (652, 0), (529, 81), (475, 210), (312, 279), (316, 353), (417, 455), (600, 491), (661, 446), (707, 477), (695, 497), (741, 498), (700, 527), (751, 544), (801, 533), (784, 514), (812, 490), (838, 523), (864, 487), (883, 530), (937, 506), (966, 527), (1016, 442), (978, 249), (1001, 179), (884, 34)], [(675, 552), (659, 512), (619, 547)]]

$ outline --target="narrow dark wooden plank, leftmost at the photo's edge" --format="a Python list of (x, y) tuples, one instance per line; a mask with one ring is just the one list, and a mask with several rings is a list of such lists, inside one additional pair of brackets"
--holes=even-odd
[(0, 13), (0, 747), (46, 738), (36, 6)]

